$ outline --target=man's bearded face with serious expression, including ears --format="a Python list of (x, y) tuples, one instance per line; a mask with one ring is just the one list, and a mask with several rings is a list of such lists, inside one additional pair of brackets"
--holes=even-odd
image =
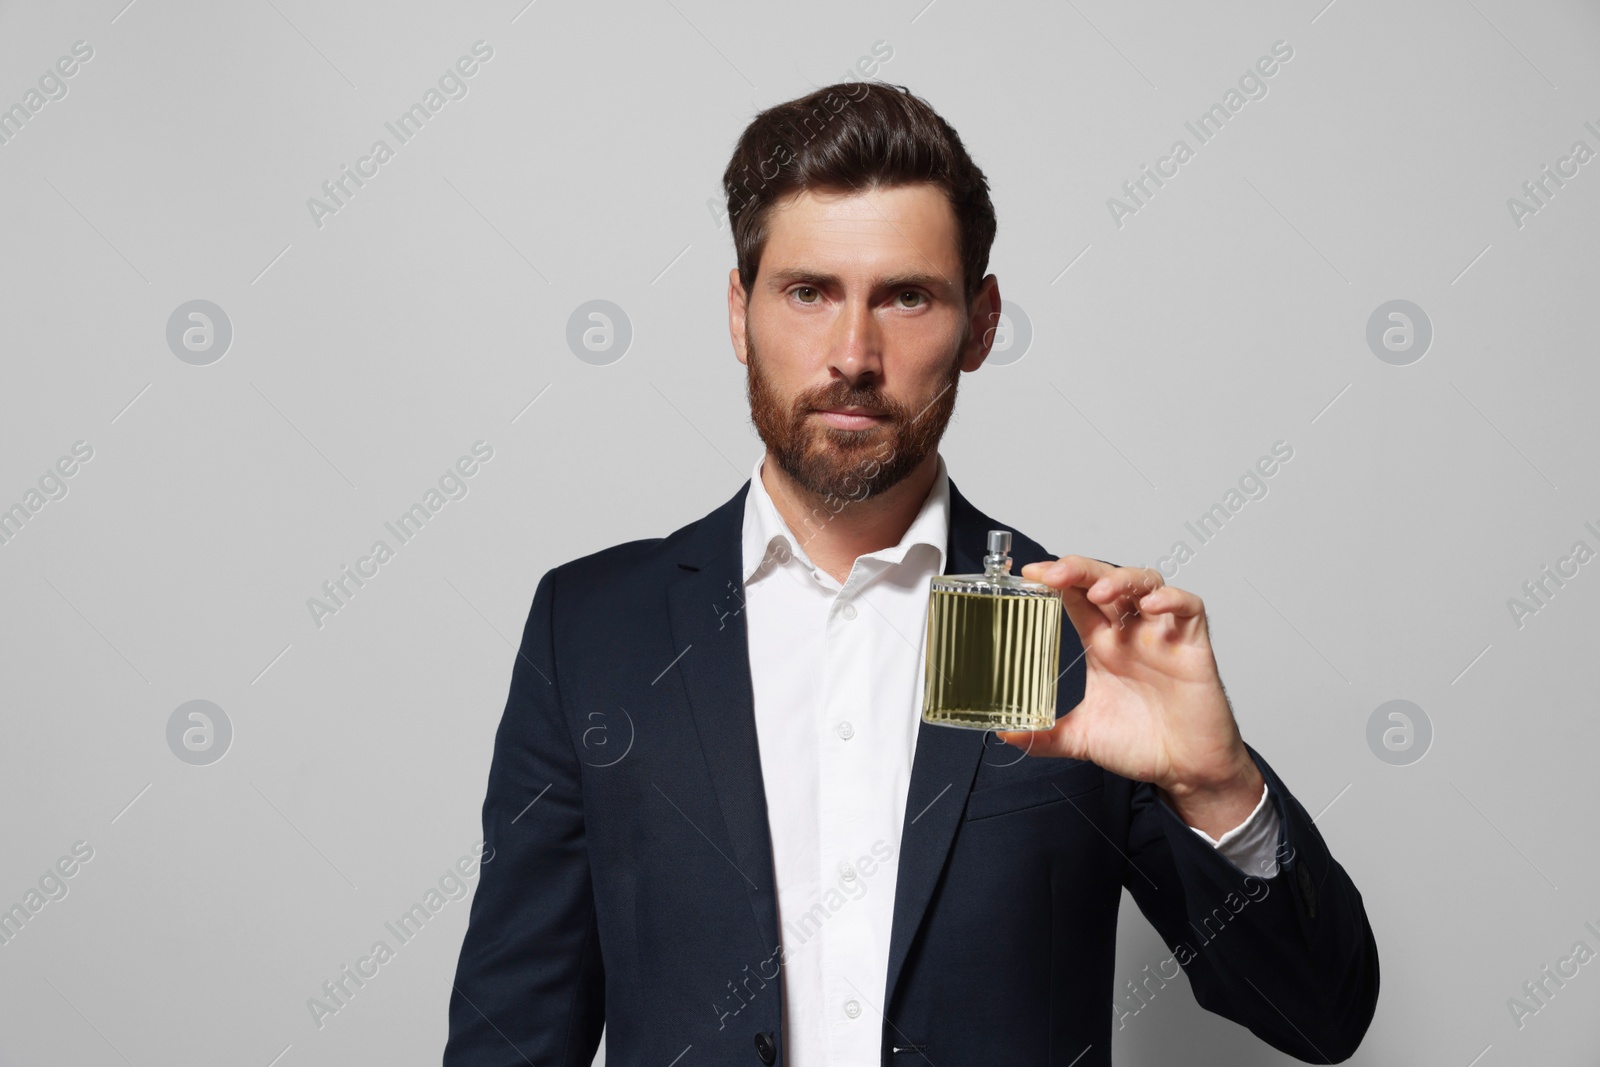
[(866, 499), (938, 448), (998, 312), (994, 277), (966, 306), (957, 240), (936, 186), (806, 190), (768, 214), (752, 291), (730, 275), (750, 419), (806, 491)]

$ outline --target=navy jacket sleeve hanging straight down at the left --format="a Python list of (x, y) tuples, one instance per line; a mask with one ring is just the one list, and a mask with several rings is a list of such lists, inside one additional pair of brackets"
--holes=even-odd
[(555, 670), (555, 584), (547, 571), (534, 592), (494, 734), (445, 1067), (589, 1067), (605, 1025), (581, 768)]

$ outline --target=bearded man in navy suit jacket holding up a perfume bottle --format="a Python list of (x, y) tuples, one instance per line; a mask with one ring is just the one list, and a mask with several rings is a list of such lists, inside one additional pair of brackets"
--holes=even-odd
[(1072, 622), (1056, 728), (920, 721), (928, 579), (1006, 528), (938, 453), (1002, 309), (955, 131), (829, 86), (758, 115), (723, 184), (766, 451), (707, 517), (539, 581), (445, 1064), (581, 1067), (605, 1027), (614, 1067), (1106, 1065), (1139, 1003), (1123, 888), (1200, 1005), (1347, 1059), (1362, 897), (1240, 737), (1198, 597), (1018, 533)]

